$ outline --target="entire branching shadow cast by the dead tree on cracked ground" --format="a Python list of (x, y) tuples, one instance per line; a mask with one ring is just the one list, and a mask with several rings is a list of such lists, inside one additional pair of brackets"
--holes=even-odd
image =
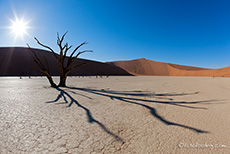
[[(64, 99), (64, 103), (69, 103), (69, 105), (67, 107), (71, 107), (73, 104), (76, 104), (78, 107), (82, 108), (83, 110), (85, 110), (86, 115), (88, 117), (88, 122), (89, 123), (96, 123), (98, 124), (102, 130), (104, 130), (106, 133), (108, 133), (109, 135), (113, 136), (114, 138), (116, 138), (119, 141), (123, 140), (116, 134), (112, 133), (111, 131), (109, 131), (105, 125), (103, 125), (101, 122), (99, 122), (98, 120), (96, 120), (93, 116), (91, 111), (84, 107), (83, 105), (81, 105), (75, 98), (73, 98), (69, 93), (72, 93), (74, 95), (79, 95), (79, 96), (83, 96), (85, 98), (88, 99), (92, 99), (91, 97), (88, 97), (87, 95), (83, 95), (83, 94), (78, 94), (73, 90), (78, 90), (78, 91), (83, 91), (86, 93), (90, 93), (90, 94), (95, 94), (95, 95), (99, 95), (102, 97), (108, 97), (112, 100), (119, 100), (122, 102), (126, 102), (126, 103), (130, 103), (130, 104), (135, 104), (141, 107), (144, 107), (146, 109), (148, 109), (150, 111), (150, 113), (157, 118), (159, 121), (163, 122), (166, 125), (174, 125), (174, 126), (178, 126), (178, 127), (183, 127), (186, 129), (190, 129), (192, 131), (195, 131), (197, 133), (209, 133), (208, 131), (205, 130), (201, 130), (201, 129), (197, 129), (191, 126), (186, 126), (183, 124), (179, 124), (179, 123), (175, 123), (175, 122), (171, 122), (166, 120), (165, 118), (163, 118), (161, 115), (159, 115), (156, 111), (155, 108), (148, 106), (146, 104), (142, 104), (142, 103), (158, 103), (158, 104), (167, 104), (167, 105), (174, 105), (174, 106), (179, 106), (179, 107), (185, 107), (185, 108), (191, 108), (191, 109), (203, 109), (206, 110), (207, 108), (203, 108), (203, 107), (194, 107), (194, 106), (189, 106), (189, 104), (209, 104), (208, 102), (212, 102), (213, 100), (208, 100), (208, 101), (192, 101), (192, 102), (185, 102), (185, 101), (172, 101), (172, 98), (167, 98), (167, 97), (173, 97), (173, 96), (184, 96), (184, 95), (195, 95), (198, 94), (199, 92), (195, 92), (195, 93), (181, 93), (181, 94), (176, 94), (176, 93), (165, 93), (165, 94), (155, 94), (155, 93), (151, 93), (151, 92), (146, 92), (146, 91), (113, 91), (113, 90), (109, 90), (109, 89), (92, 89), (92, 88), (77, 88), (77, 87), (66, 87), (66, 88), (56, 88), (56, 90), (58, 90), (60, 92), (60, 94), (57, 96), (57, 98), (54, 101), (50, 101), (47, 103), (55, 103), (57, 102), (60, 98), (63, 97)], [(138, 97), (145, 97), (144, 99), (140, 99), (140, 98), (133, 98), (133, 97), (128, 97), (128, 96), (138, 96)], [(149, 100), (146, 99), (147, 98), (162, 98), (165, 97), (163, 99), (167, 99), (169, 101), (154, 101), (154, 100)], [(68, 99), (70, 100), (70, 102), (68, 102)], [(141, 103), (140, 103), (141, 102)]]

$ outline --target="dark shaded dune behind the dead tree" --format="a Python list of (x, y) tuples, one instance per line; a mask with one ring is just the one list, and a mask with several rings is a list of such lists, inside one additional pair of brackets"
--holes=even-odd
[[(44, 58), (47, 59), (51, 75), (59, 75), (57, 60), (51, 52), (41, 49), (33, 50), (43, 60), (44, 64)], [(0, 48), (0, 76), (43, 75), (33, 67), (36, 65), (33, 57), (34, 55), (29, 48)], [(125, 70), (107, 63), (80, 58), (76, 61), (79, 64), (84, 62), (88, 62), (88, 64), (76, 68), (69, 75), (130, 75)]]

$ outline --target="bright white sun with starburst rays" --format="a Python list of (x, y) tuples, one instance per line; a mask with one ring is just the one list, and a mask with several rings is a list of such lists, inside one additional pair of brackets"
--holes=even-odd
[(11, 26), (9, 27), (11, 29), (11, 33), (15, 34), (15, 37), (20, 36), (23, 38), (24, 35), (28, 35), (27, 30), (29, 29), (28, 22), (24, 21), (24, 19), (18, 19), (16, 18), (14, 21), (11, 20)]

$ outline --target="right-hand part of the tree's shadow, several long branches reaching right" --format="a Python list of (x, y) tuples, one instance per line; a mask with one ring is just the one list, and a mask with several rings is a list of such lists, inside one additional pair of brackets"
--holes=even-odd
[[(174, 122), (170, 122), (168, 120), (166, 120), (165, 118), (163, 118), (162, 116), (160, 116), (156, 109), (142, 104), (142, 103), (138, 103), (138, 102), (147, 102), (147, 103), (159, 103), (159, 104), (167, 104), (167, 105), (174, 105), (174, 106), (179, 106), (179, 107), (185, 107), (185, 108), (192, 108), (192, 109), (203, 109), (203, 110), (207, 110), (207, 108), (204, 107), (194, 107), (194, 106), (188, 106), (188, 104), (208, 104), (208, 102), (212, 102), (214, 100), (207, 100), (207, 101), (192, 101), (192, 102), (185, 102), (185, 101), (154, 101), (154, 100), (148, 100), (148, 99), (140, 99), (140, 98), (133, 98), (133, 97), (127, 97), (127, 96), (142, 96), (142, 97), (153, 97), (153, 96), (184, 96), (184, 95), (196, 95), (199, 92), (194, 92), (194, 93), (181, 93), (181, 94), (173, 94), (173, 93), (165, 93), (165, 94), (155, 94), (155, 93), (149, 93), (149, 92), (145, 92), (145, 91), (113, 91), (113, 90), (105, 90), (105, 89), (92, 89), (92, 88), (77, 88), (77, 87), (67, 87), (68, 89), (74, 89), (74, 90), (80, 90), (80, 91), (84, 91), (84, 92), (88, 92), (91, 94), (95, 94), (95, 95), (100, 95), (103, 97), (108, 97), (112, 100), (120, 100), (126, 103), (130, 103), (130, 104), (135, 104), (135, 105), (139, 105), (142, 106), (146, 109), (148, 109), (150, 111), (150, 113), (157, 118), (158, 120), (160, 120), (161, 122), (163, 122), (166, 125), (175, 125), (175, 126), (179, 126), (179, 127), (183, 127), (186, 129), (190, 129), (193, 130), (197, 133), (209, 133), (208, 131), (204, 131), (201, 129), (197, 129), (197, 128), (193, 128), (190, 126), (186, 126), (183, 124), (178, 124), (178, 123), (174, 123)], [(117, 96), (119, 95), (119, 96)], [(120, 96), (121, 95), (121, 96)]]

